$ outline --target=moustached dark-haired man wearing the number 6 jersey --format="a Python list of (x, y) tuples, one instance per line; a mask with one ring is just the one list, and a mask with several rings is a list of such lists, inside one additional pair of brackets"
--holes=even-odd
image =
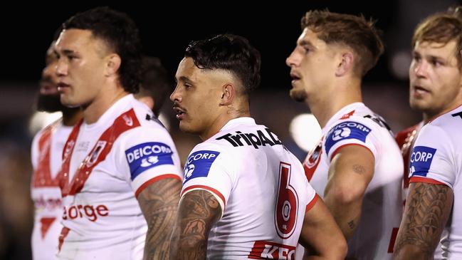
[(260, 53), (230, 34), (192, 42), (179, 63), (179, 128), (199, 135), (184, 166), (172, 259), (343, 259), (346, 244), (303, 167), (278, 137), (257, 125), (249, 93), (260, 83)]

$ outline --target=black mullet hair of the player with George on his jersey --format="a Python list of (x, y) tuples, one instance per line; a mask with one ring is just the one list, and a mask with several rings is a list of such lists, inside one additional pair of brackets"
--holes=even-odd
[(105, 41), (120, 56), (119, 80), (125, 91), (137, 93), (140, 87), (141, 40), (138, 28), (130, 17), (107, 6), (75, 14), (63, 29), (89, 30), (92, 36)]

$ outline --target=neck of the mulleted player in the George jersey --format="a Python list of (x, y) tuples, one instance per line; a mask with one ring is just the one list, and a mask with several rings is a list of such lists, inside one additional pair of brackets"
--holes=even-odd
[(83, 120), (87, 124), (93, 124), (103, 115), (117, 100), (128, 95), (123, 88), (115, 88), (103, 96), (96, 97), (90, 104), (83, 107)]

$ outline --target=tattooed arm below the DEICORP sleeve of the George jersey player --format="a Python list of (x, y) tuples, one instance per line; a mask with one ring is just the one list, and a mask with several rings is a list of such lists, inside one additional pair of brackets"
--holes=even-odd
[(169, 259), (170, 236), (181, 189), (182, 182), (169, 178), (150, 184), (138, 195), (148, 227), (145, 260)]

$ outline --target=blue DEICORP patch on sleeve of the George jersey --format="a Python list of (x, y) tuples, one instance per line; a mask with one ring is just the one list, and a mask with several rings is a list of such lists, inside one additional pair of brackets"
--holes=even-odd
[(149, 168), (173, 165), (172, 155), (172, 149), (162, 142), (145, 142), (125, 150), (132, 180)]

